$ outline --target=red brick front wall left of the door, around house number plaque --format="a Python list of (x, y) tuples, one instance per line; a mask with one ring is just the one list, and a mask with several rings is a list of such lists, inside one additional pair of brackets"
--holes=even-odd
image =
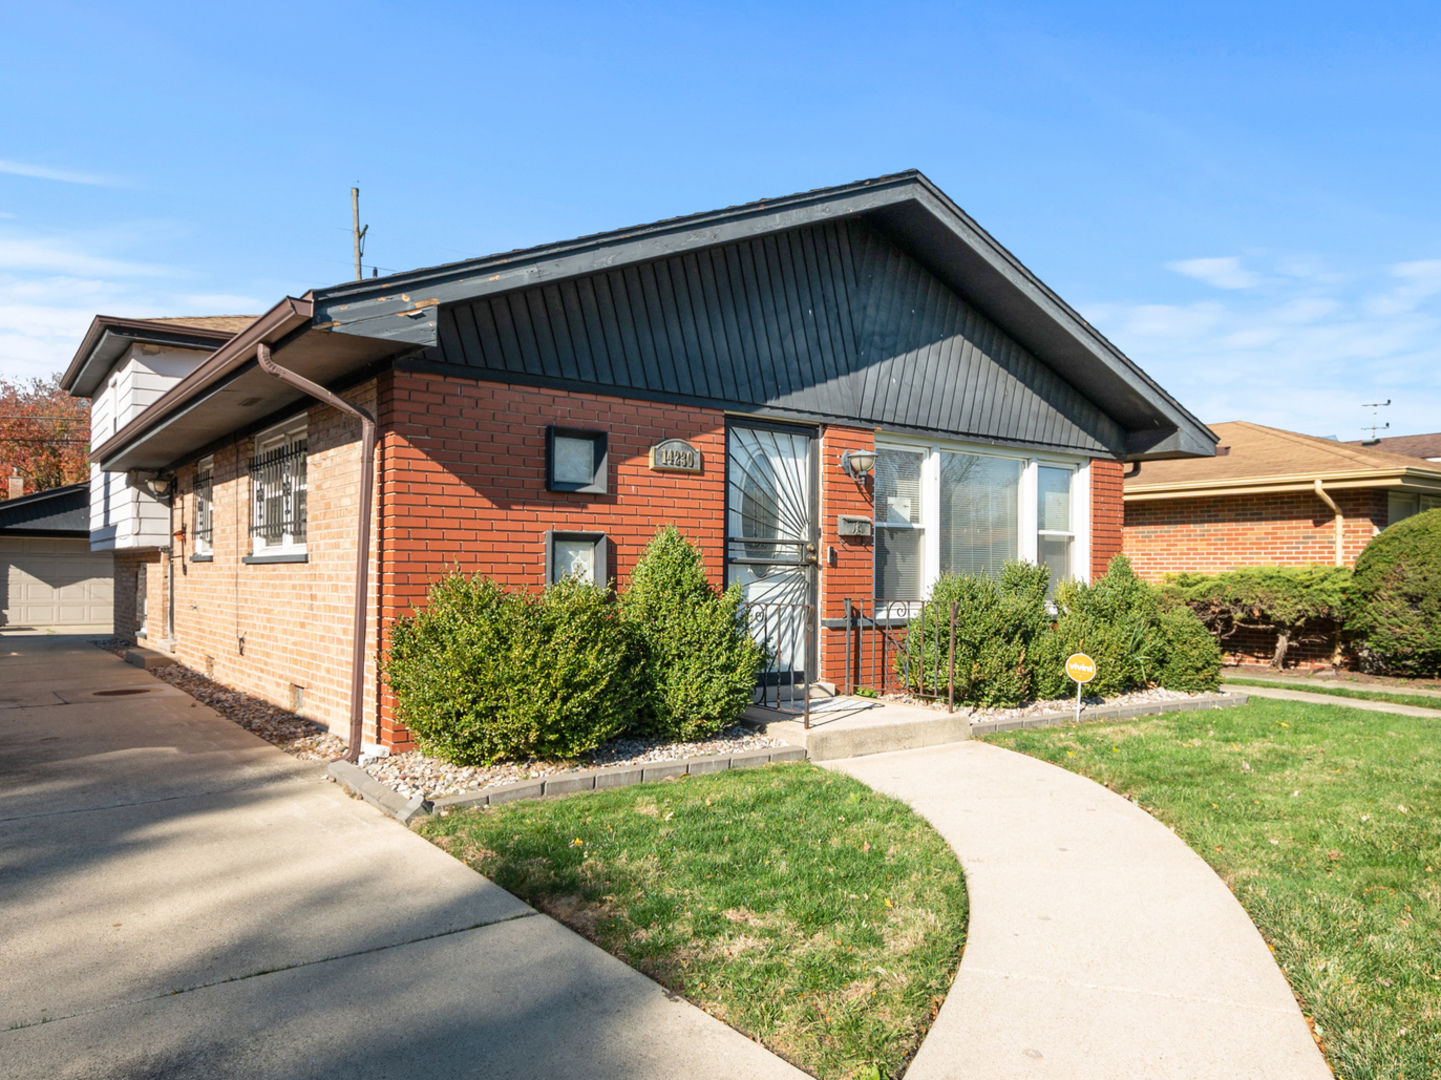
[[(604, 532), (611, 574), (624, 583), (656, 531), (677, 525), (700, 546), (712, 581), (722, 581), (725, 414), (718, 410), (395, 372), (380, 421), (386, 626), (451, 567), (510, 587), (543, 587), (548, 529)], [(607, 495), (545, 490), (549, 424), (607, 433)], [(664, 438), (696, 446), (703, 472), (651, 472), (650, 447)], [(388, 696), (380, 731), (392, 745), (409, 744)]]

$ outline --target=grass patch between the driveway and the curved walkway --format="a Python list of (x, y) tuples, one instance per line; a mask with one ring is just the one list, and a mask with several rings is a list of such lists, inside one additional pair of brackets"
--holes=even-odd
[(945, 841), (808, 764), (452, 812), (422, 832), (818, 1077), (898, 1076), (965, 940)]

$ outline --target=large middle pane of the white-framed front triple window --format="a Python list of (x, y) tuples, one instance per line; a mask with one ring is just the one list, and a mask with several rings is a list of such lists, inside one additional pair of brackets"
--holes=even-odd
[(1016, 559), (1023, 464), (1010, 457), (941, 453), (942, 574), (994, 577)]

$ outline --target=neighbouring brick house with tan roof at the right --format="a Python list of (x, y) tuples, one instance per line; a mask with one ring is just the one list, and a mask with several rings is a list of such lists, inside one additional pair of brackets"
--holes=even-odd
[(1150, 580), (1254, 565), (1352, 567), (1370, 538), (1441, 506), (1441, 464), (1245, 421), (1213, 457), (1125, 473), (1125, 554)]

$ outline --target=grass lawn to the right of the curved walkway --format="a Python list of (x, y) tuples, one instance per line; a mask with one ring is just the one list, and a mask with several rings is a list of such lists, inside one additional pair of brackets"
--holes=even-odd
[(1343, 1080), (1441, 1076), (1441, 728), (1252, 699), (986, 741), (1136, 799), (1231, 885)]

